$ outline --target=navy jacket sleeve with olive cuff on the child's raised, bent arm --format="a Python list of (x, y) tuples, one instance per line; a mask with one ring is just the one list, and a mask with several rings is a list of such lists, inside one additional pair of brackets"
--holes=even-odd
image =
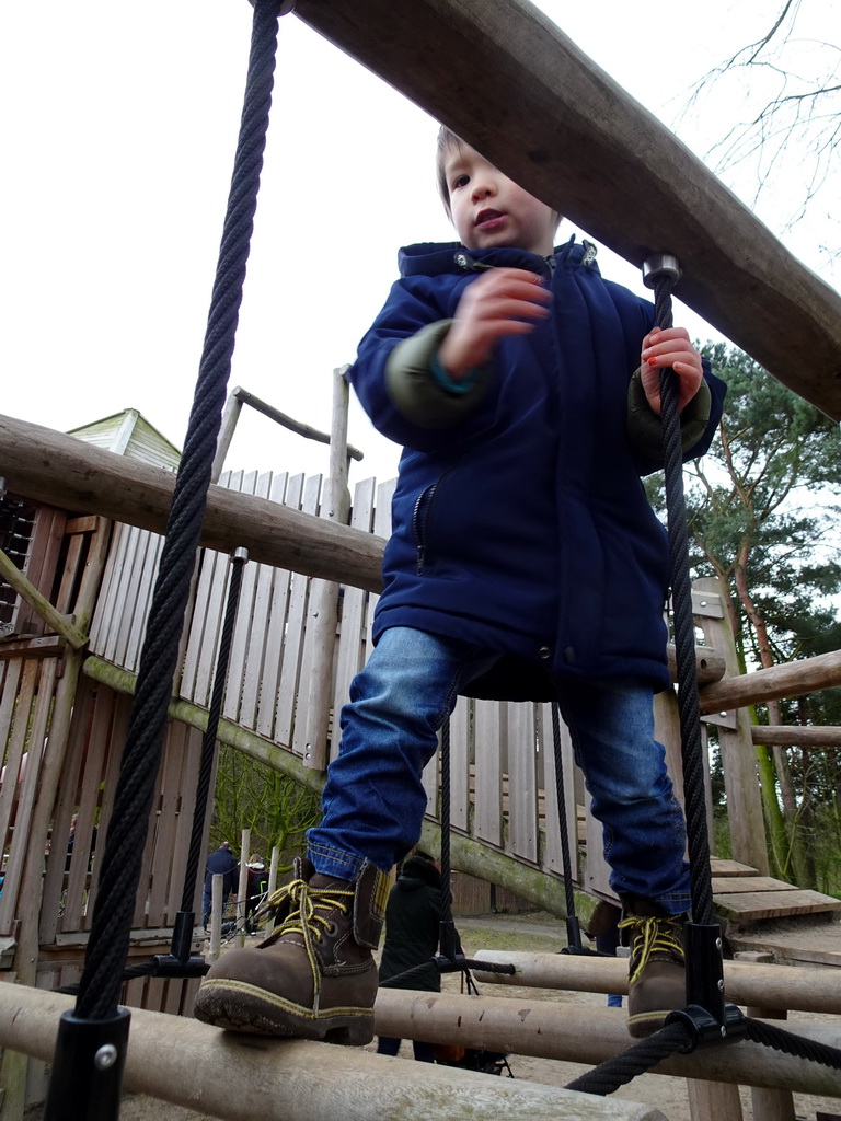
[(436, 361), (452, 325), (450, 308), (423, 278), (399, 280), (359, 344), (349, 380), (375, 427), (406, 447), (435, 451), (464, 436), (492, 381), (489, 363), (463, 382)]

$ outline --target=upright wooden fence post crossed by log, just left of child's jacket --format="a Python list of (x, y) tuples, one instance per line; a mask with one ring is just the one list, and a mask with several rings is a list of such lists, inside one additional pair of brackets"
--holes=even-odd
[[(333, 371), (333, 418), (330, 433), (330, 471), (322, 497), (321, 517), (338, 525), (348, 524), (348, 407), (350, 390), (345, 373), (349, 367)], [(311, 673), (306, 692), (306, 732), (304, 763), (326, 770), (327, 726), (333, 685), (333, 654), (339, 617), (339, 584), (316, 581), (309, 592), (307, 630)], [(338, 722), (336, 722), (338, 732)]]

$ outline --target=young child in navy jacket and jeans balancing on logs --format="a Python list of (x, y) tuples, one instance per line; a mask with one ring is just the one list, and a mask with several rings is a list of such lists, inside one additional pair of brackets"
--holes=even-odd
[(680, 380), (687, 458), (712, 439), (723, 386), (685, 331), (656, 330), (648, 302), (602, 279), (592, 245), (553, 251), (558, 215), (446, 129), (438, 172), (460, 242), (401, 251), (350, 374), (404, 445), (376, 647), (278, 926), (212, 967), (195, 1015), (368, 1043), (386, 873), (420, 835), (438, 729), (459, 694), (554, 696), (625, 904), (630, 1031), (647, 1035), (685, 1004), (690, 886), (653, 738), (667, 546), (639, 476), (662, 465), (660, 368)]

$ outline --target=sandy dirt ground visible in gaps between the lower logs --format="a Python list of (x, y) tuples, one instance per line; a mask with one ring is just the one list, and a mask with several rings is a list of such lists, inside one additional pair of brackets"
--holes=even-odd
[[(456, 926), (468, 955), (474, 949), (492, 947), (495, 937), (499, 936), (503, 937), (503, 945), (507, 949), (552, 951), (553, 948), (560, 949), (565, 945), (563, 924), (543, 914), (497, 915), (479, 919), (458, 918)], [(459, 979), (452, 975), (445, 976), (443, 989), (444, 991), (458, 992), (460, 989)], [(483, 991), (486, 994), (492, 995), (493, 986), (488, 985)], [(603, 1008), (606, 1000), (603, 995), (590, 993), (518, 989), (508, 985), (501, 991), (506, 997), (520, 995), (530, 1000), (589, 1003), (598, 1008)], [(617, 1010), (617, 1016), (621, 1015), (623, 1013)], [(798, 1018), (806, 1018), (804, 1013), (797, 1015)], [(376, 1050), (376, 1044), (369, 1045), (366, 1049)], [(400, 1060), (413, 1062), (409, 1043), (404, 1041), (400, 1049)], [(508, 1062), (515, 1078), (539, 1082), (551, 1086), (565, 1086), (573, 1078), (577, 1078), (588, 1071), (588, 1067), (579, 1064), (532, 1058), (525, 1055), (510, 1055)], [(741, 1087), (740, 1095), (743, 1121), (766, 1121), (765, 1118), (755, 1115), (750, 1090)], [(683, 1078), (644, 1074), (630, 1085), (621, 1087), (613, 1096), (656, 1106), (668, 1121), (692, 1121), (686, 1081)], [(795, 1094), (794, 1108), (798, 1121), (801, 1119), (803, 1121), (841, 1121), (841, 1100), (839, 1099)], [(28, 1111), (27, 1121), (40, 1118), (41, 1112), (41, 1110)], [(154, 1097), (129, 1093), (124, 1095), (120, 1118), (121, 1121), (212, 1121), (207, 1114), (169, 1105)]]

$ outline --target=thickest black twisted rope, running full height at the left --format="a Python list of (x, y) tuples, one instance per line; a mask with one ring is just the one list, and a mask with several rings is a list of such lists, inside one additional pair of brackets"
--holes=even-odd
[(167, 707), (231, 368), (271, 104), (279, 0), (255, 0), (240, 136), (204, 349), (138, 671), (75, 1015), (117, 1013)]

